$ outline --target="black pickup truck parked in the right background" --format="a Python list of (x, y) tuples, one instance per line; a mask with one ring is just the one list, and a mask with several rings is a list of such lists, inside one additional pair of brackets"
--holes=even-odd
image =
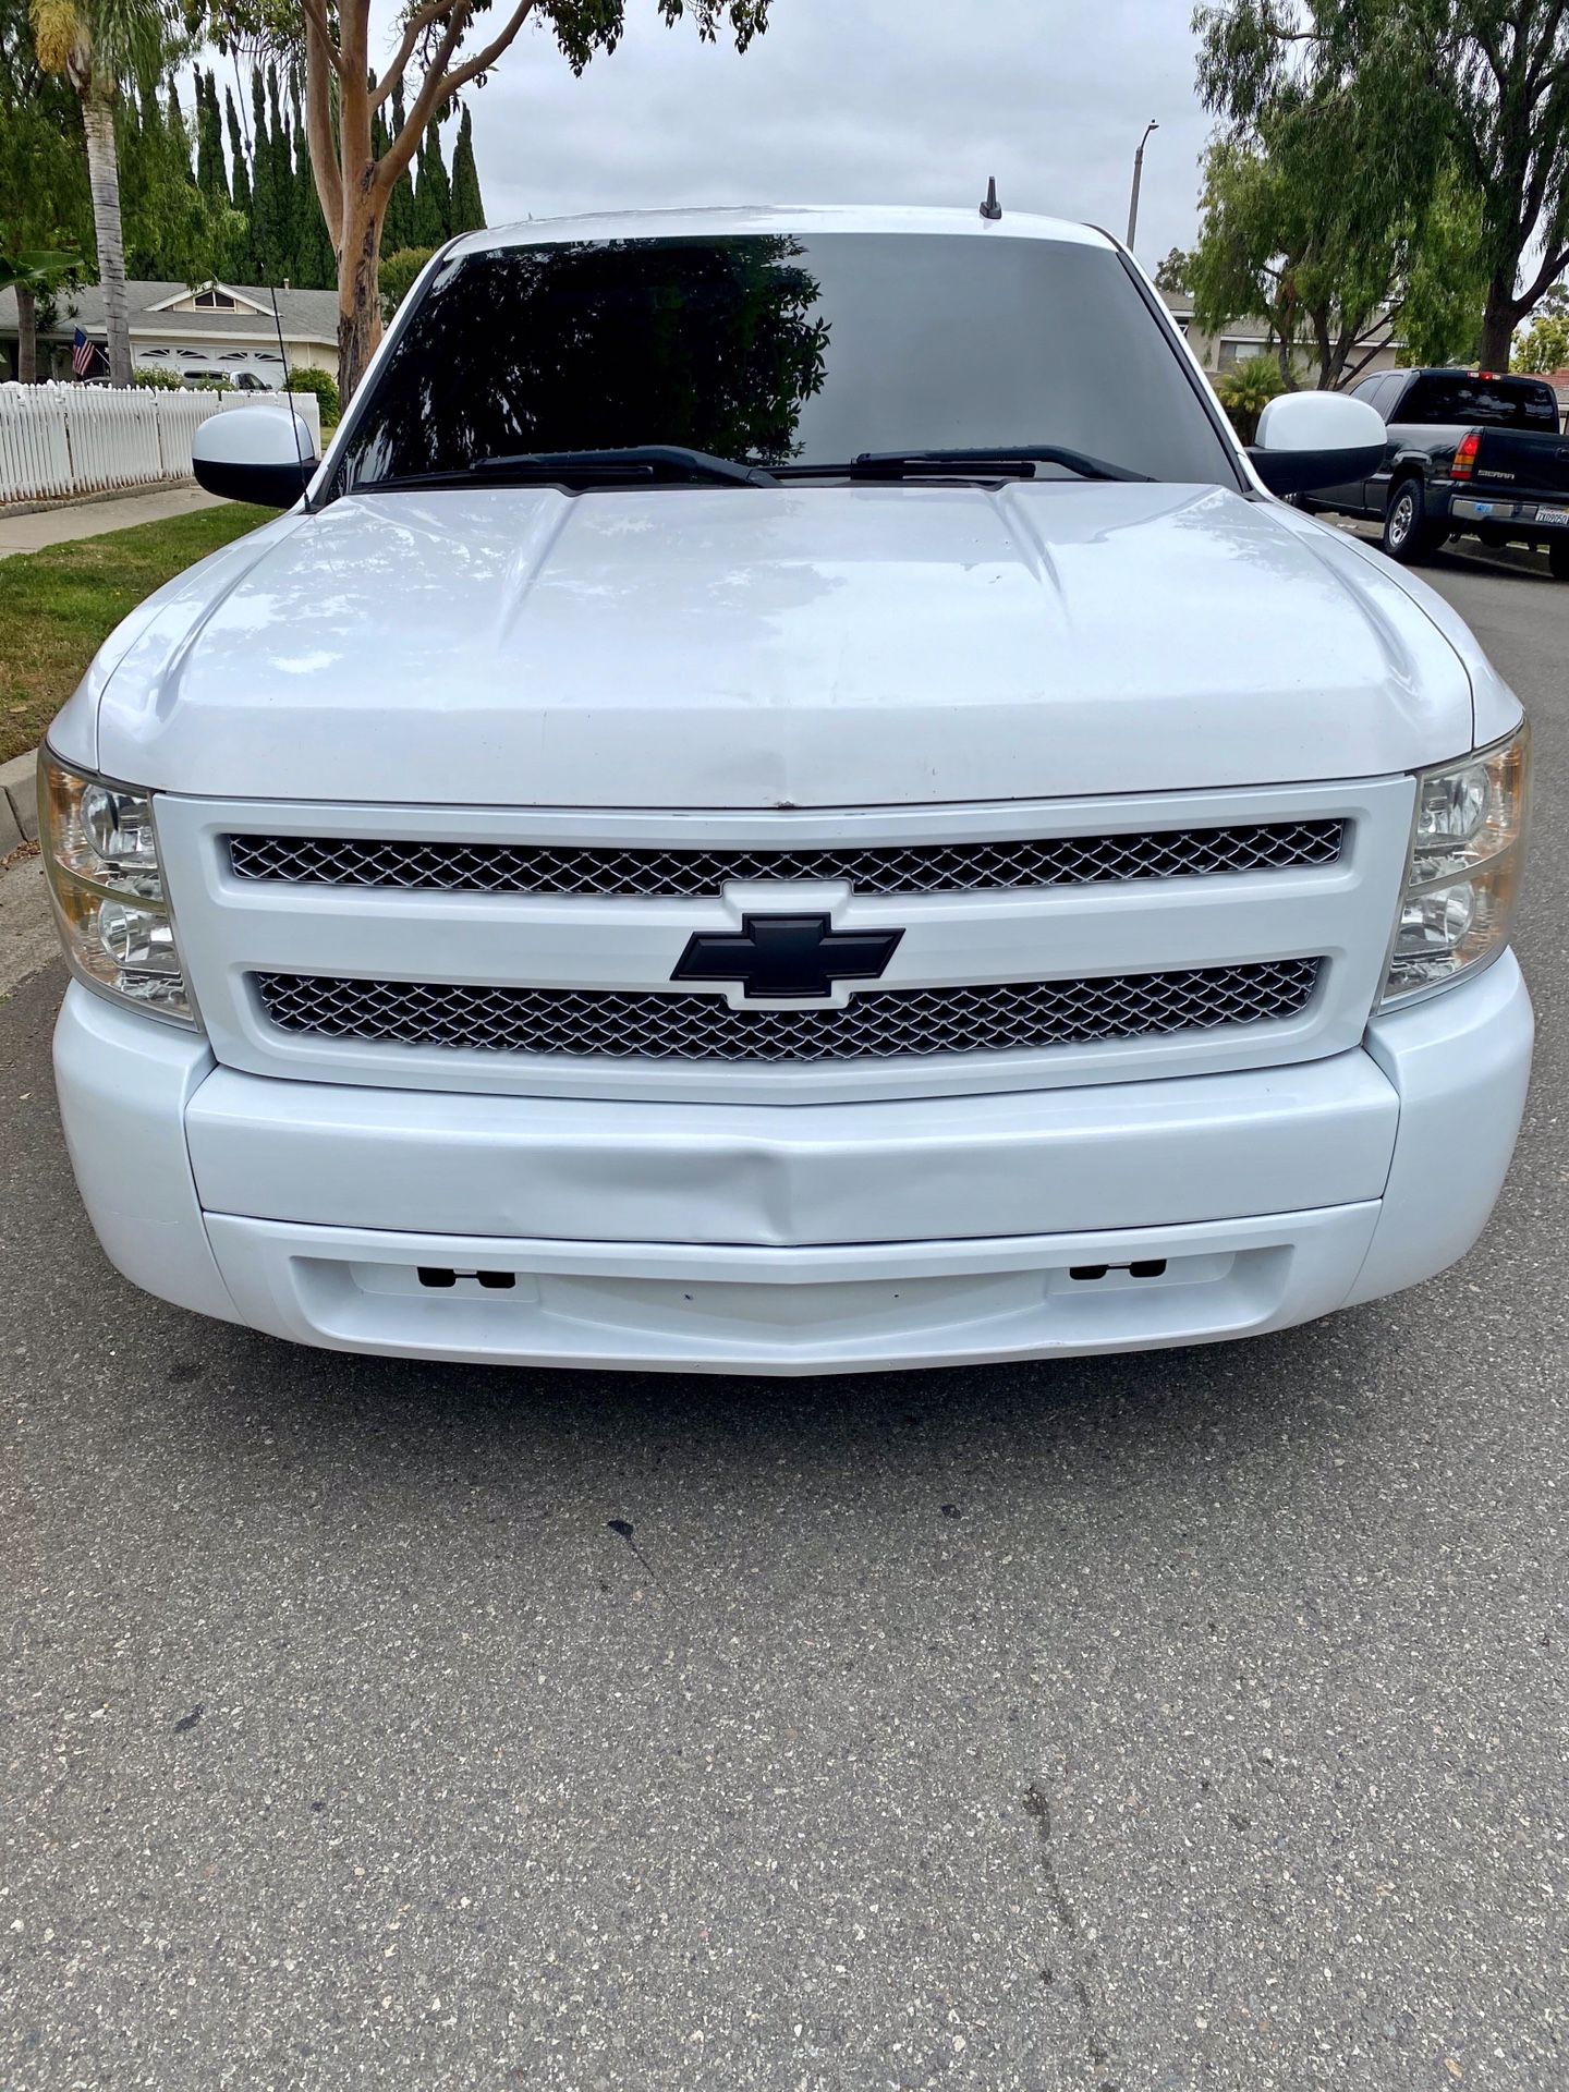
[(1406, 565), (1446, 538), (1542, 546), (1569, 582), (1569, 437), (1542, 379), (1469, 370), (1383, 370), (1364, 379), (1385, 423), (1377, 473), (1314, 492), (1312, 508), (1374, 517), (1383, 548)]

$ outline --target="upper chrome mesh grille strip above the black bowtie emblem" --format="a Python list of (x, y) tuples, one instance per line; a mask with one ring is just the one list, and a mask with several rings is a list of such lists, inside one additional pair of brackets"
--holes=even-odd
[(1280, 820), (1155, 835), (1025, 843), (902, 843), (866, 849), (554, 849), (540, 843), (408, 843), (232, 835), (236, 879), (439, 893), (575, 893), (680, 900), (728, 881), (849, 881), (858, 893), (985, 893), (1021, 887), (1195, 879), (1335, 864), (1345, 822)]

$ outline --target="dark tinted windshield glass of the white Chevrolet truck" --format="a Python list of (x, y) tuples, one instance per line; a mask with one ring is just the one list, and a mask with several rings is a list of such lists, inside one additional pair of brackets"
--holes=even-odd
[(759, 464), (1063, 444), (1236, 485), (1115, 253), (858, 232), (456, 259), (374, 381), (345, 485), (632, 444)]

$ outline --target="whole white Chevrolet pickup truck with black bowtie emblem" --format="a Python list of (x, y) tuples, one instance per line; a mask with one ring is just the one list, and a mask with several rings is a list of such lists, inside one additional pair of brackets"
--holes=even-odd
[(1431, 1278), (1517, 1136), (1527, 738), (1274, 494), (1115, 241), (584, 218), (446, 247), (287, 513), (42, 753), (109, 1257), (416, 1358), (824, 1372)]

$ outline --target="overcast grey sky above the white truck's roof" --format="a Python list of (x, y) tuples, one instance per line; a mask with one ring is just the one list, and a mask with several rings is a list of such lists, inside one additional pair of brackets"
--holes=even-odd
[[(471, 96), (494, 226), (674, 203), (952, 203), (1121, 234), (1151, 117), (1138, 251), (1192, 241), (1207, 119), (1190, 0), (772, 0), (745, 59), (659, 25), (573, 79), (525, 29)], [(483, 21), (485, 17), (481, 17)]]

